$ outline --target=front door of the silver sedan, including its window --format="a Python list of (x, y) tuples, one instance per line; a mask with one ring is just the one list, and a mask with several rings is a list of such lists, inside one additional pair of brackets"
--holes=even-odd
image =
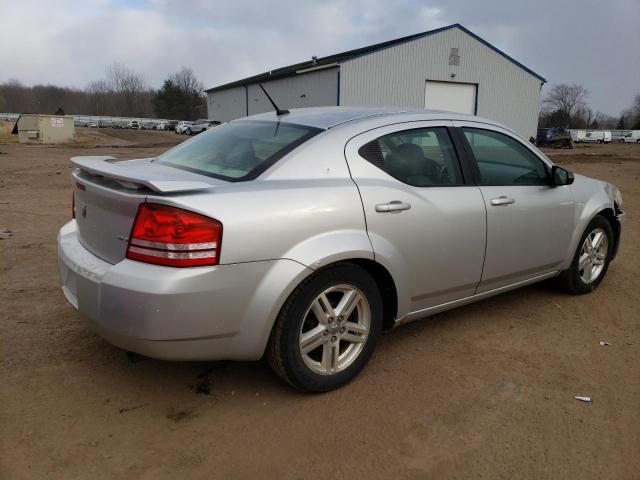
[(507, 130), (454, 122), (466, 142), (487, 207), (487, 252), (477, 293), (558, 269), (575, 226), (569, 185), (552, 187), (550, 166)]

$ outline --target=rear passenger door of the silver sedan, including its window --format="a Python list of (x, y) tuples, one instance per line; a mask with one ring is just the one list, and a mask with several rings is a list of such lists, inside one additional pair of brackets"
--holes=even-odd
[(358, 135), (345, 154), (376, 261), (394, 276), (398, 315), (473, 295), (486, 213), (465, 184), (450, 122), (411, 122)]

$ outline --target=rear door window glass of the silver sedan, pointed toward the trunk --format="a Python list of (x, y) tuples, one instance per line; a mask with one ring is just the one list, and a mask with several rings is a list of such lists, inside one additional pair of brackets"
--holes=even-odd
[(408, 185), (433, 187), (463, 183), (456, 151), (444, 127), (390, 133), (363, 145), (358, 153)]

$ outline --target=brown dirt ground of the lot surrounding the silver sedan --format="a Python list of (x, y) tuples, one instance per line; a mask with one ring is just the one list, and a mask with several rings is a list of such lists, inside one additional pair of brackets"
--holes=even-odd
[(623, 245), (595, 293), (540, 284), (409, 324), (353, 383), (311, 396), (260, 362), (130, 359), (60, 291), (69, 157), (183, 138), (0, 143), (1, 478), (640, 477), (640, 146), (549, 152), (623, 192)]

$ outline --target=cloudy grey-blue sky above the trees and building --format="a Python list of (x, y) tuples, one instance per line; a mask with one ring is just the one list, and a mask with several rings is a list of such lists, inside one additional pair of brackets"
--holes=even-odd
[[(640, 0), (0, 0), (0, 82), (85, 87), (123, 63), (205, 88), (460, 23), (617, 115), (640, 93)], [(543, 90), (543, 94), (544, 91)]]

